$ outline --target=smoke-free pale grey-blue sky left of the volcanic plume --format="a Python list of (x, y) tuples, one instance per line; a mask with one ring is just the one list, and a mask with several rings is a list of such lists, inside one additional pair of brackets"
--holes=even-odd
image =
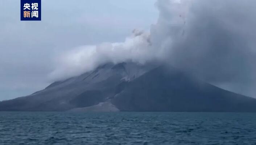
[[(157, 21), (156, 0), (42, 0), (42, 21), (20, 21), (20, 0), (0, 0), (0, 100), (51, 83), (54, 57), (81, 45), (124, 41)], [(104, 25), (103, 25), (104, 24)]]

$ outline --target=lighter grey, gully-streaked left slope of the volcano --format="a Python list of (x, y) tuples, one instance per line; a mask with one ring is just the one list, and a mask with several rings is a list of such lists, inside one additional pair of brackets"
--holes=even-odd
[(66, 111), (89, 107), (115, 95), (119, 83), (132, 81), (155, 67), (155, 64), (107, 63), (82, 75), (54, 82), (29, 96), (2, 101), (0, 111)]

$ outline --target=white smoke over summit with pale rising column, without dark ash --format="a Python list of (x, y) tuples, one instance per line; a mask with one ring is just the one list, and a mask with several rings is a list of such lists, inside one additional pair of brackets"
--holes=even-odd
[[(151, 34), (135, 29), (132, 36), (125, 38), (124, 42), (85, 45), (62, 54), (57, 58), (57, 67), (49, 75), (50, 79), (60, 80), (79, 75), (107, 62), (132, 61), (143, 64), (147, 61), (162, 60), (173, 37), (181, 35), (185, 25), (187, 7), (181, 1), (159, 0), (156, 3), (160, 17), (157, 24), (152, 25)], [(165, 11), (172, 14), (172, 17), (165, 17)], [(167, 28), (169, 25), (173, 25), (172, 28)]]

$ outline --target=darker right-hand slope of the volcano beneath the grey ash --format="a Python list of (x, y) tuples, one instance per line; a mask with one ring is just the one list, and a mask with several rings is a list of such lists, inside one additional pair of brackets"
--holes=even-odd
[(123, 111), (256, 112), (256, 99), (164, 66), (126, 83), (112, 103)]

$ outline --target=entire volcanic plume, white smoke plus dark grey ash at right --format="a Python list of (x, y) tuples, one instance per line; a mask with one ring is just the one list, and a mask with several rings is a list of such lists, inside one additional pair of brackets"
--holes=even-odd
[(150, 32), (135, 29), (124, 42), (67, 52), (50, 77), (64, 79), (107, 62), (165, 61), (207, 82), (256, 95), (250, 92), (256, 87), (255, 5), (254, 0), (158, 0), (159, 17)]

